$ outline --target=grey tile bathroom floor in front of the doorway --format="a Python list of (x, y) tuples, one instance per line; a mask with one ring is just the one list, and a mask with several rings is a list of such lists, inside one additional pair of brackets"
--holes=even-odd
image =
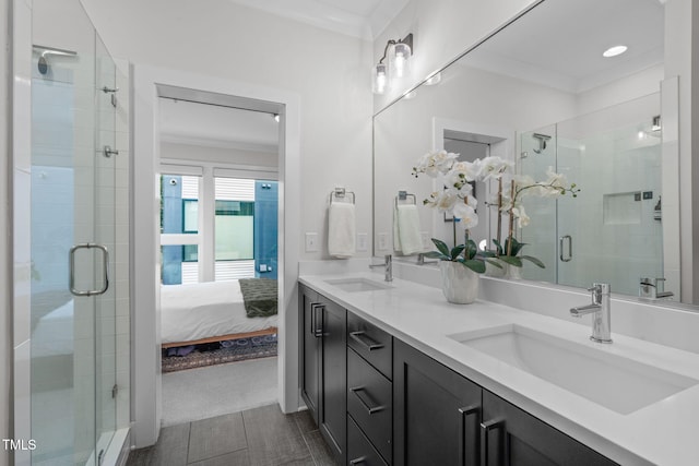
[(161, 430), (153, 446), (131, 452), (127, 466), (336, 466), (308, 411), (277, 404)]

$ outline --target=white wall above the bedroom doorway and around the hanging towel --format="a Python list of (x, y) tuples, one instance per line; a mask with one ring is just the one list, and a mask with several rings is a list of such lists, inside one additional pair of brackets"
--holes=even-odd
[(226, 0), (208, 1), (205, 8), (187, 0), (83, 3), (116, 57), (298, 93), (299, 230), (318, 232), (322, 240), (321, 251), (301, 250), (303, 258), (328, 256), (327, 205), (335, 186), (357, 192), (357, 231), (370, 231), (369, 43)]

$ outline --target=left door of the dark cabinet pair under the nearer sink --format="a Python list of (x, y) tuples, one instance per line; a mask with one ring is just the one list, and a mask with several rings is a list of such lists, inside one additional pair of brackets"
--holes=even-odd
[(393, 340), (396, 465), (479, 465), (481, 387)]

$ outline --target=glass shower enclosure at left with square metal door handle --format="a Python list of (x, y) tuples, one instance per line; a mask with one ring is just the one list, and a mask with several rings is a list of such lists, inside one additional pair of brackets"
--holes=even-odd
[(115, 62), (78, 0), (34, 0), (35, 465), (100, 465), (117, 428)]

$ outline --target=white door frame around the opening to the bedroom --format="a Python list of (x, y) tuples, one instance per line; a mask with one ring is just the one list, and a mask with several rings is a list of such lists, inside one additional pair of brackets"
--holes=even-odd
[(157, 441), (161, 427), (159, 131), (158, 86), (281, 104), (279, 208), (279, 403), (298, 409), (298, 278), (300, 229), (300, 97), (286, 91), (146, 65), (131, 69), (131, 419), (132, 444)]

